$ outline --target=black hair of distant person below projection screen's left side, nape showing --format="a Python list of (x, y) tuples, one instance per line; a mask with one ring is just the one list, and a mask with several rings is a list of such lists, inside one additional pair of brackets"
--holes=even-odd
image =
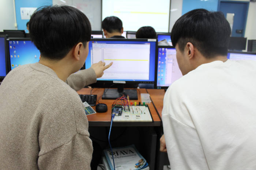
[(121, 32), (123, 28), (122, 21), (116, 16), (108, 16), (101, 23), (102, 29), (105, 29), (109, 33)]

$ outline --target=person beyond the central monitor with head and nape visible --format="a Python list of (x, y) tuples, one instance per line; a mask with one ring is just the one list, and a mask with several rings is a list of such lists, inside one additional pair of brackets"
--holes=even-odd
[(102, 21), (101, 27), (106, 38), (125, 38), (122, 36), (124, 32), (123, 23), (116, 16), (106, 17)]

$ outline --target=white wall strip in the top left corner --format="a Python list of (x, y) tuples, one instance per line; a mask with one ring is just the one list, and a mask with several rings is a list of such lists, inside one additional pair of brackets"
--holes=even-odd
[[(0, 32), (15, 29), (14, 5), (12, 0), (0, 0)], [(7, 17), (8, 16), (8, 17)]]

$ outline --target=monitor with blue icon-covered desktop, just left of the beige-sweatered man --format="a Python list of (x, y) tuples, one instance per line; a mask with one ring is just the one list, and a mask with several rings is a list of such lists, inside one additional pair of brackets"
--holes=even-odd
[(40, 52), (30, 38), (8, 38), (8, 71), (39, 61)]

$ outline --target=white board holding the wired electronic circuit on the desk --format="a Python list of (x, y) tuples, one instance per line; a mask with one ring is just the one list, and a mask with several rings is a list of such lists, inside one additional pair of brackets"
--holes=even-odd
[(129, 106), (130, 111), (123, 111), (121, 116), (114, 116), (113, 122), (152, 122), (146, 106)]

